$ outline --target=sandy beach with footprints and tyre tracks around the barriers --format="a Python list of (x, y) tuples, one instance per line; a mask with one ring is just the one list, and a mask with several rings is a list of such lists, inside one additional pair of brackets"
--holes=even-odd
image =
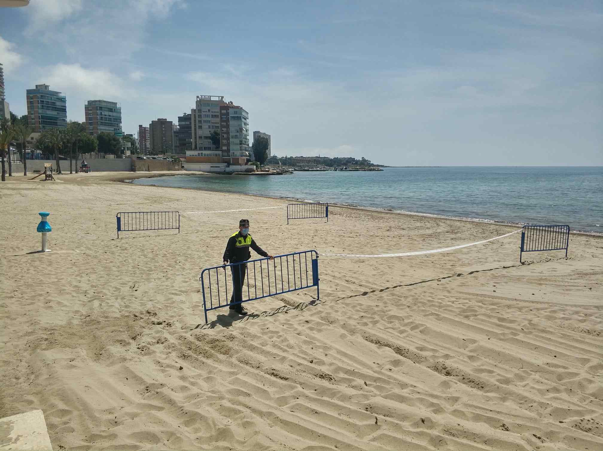
[[(569, 258), (525, 265), (519, 233), (324, 255), (319, 301), (277, 295), (206, 326), (198, 276), (240, 218), (274, 255), (518, 227), (337, 206), (287, 225), (283, 207), (116, 239), (120, 211), (286, 205), (115, 181), (145, 176), (0, 183), (0, 417), (42, 409), (54, 450), (603, 449), (603, 238), (572, 234)], [(52, 251), (31, 254), (41, 211)]]

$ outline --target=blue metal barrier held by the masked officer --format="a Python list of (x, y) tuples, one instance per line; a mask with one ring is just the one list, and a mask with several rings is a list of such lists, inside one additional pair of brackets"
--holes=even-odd
[[(227, 271), (229, 267), (230, 271)], [(206, 324), (207, 312), (228, 307), (231, 301), (241, 304), (313, 286), (317, 299), (320, 297), (318, 253), (315, 250), (277, 255), (273, 260), (262, 258), (205, 268), (199, 280)]]

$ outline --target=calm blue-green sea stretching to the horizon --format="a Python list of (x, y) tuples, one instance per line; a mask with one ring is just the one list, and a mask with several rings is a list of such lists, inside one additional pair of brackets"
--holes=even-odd
[(383, 172), (183, 175), (137, 184), (296, 198), (455, 218), (569, 224), (603, 233), (603, 167), (385, 168)]

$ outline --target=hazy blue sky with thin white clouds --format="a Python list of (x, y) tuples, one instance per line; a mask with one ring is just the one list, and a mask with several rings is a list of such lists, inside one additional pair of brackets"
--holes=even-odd
[(278, 156), (603, 165), (600, 0), (31, 0), (0, 8), (0, 63), (17, 115), (46, 83), (134, 136), (223, 95)]

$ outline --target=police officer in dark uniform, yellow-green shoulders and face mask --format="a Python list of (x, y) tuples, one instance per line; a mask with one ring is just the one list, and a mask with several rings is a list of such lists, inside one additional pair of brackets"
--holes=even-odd
[[(241, 219), (239, 221), (239, 232), (234, 233), (230, 236), (228, 243), (226, 244), (226, 250), (224, 251), (224, 265), (228, 265), (230, 263), (240, 263), (246, 262), (251, 257), (251, 252), (249, 248), (252, 248), (262, 257), (268, 257), (269, 259), (274, 259), (273, 256), (268, 255), (268, 253), (262, 248), (260, 248), (256, 242), (249, 235), (249, 219)], [(242, 304), (236, 304), (236, 302), (241, 302), (242, 298), (242, 288), (245, 280), (245, 271), (247, 270), (247, 265), (233, 265), (230, 266), (230, 271), (232, 271), (232, 285), (233, 292), (230, 297), (230, 310), (234, 310), (239, 315), (247, 315), (247, 310), (244, 309)]]

